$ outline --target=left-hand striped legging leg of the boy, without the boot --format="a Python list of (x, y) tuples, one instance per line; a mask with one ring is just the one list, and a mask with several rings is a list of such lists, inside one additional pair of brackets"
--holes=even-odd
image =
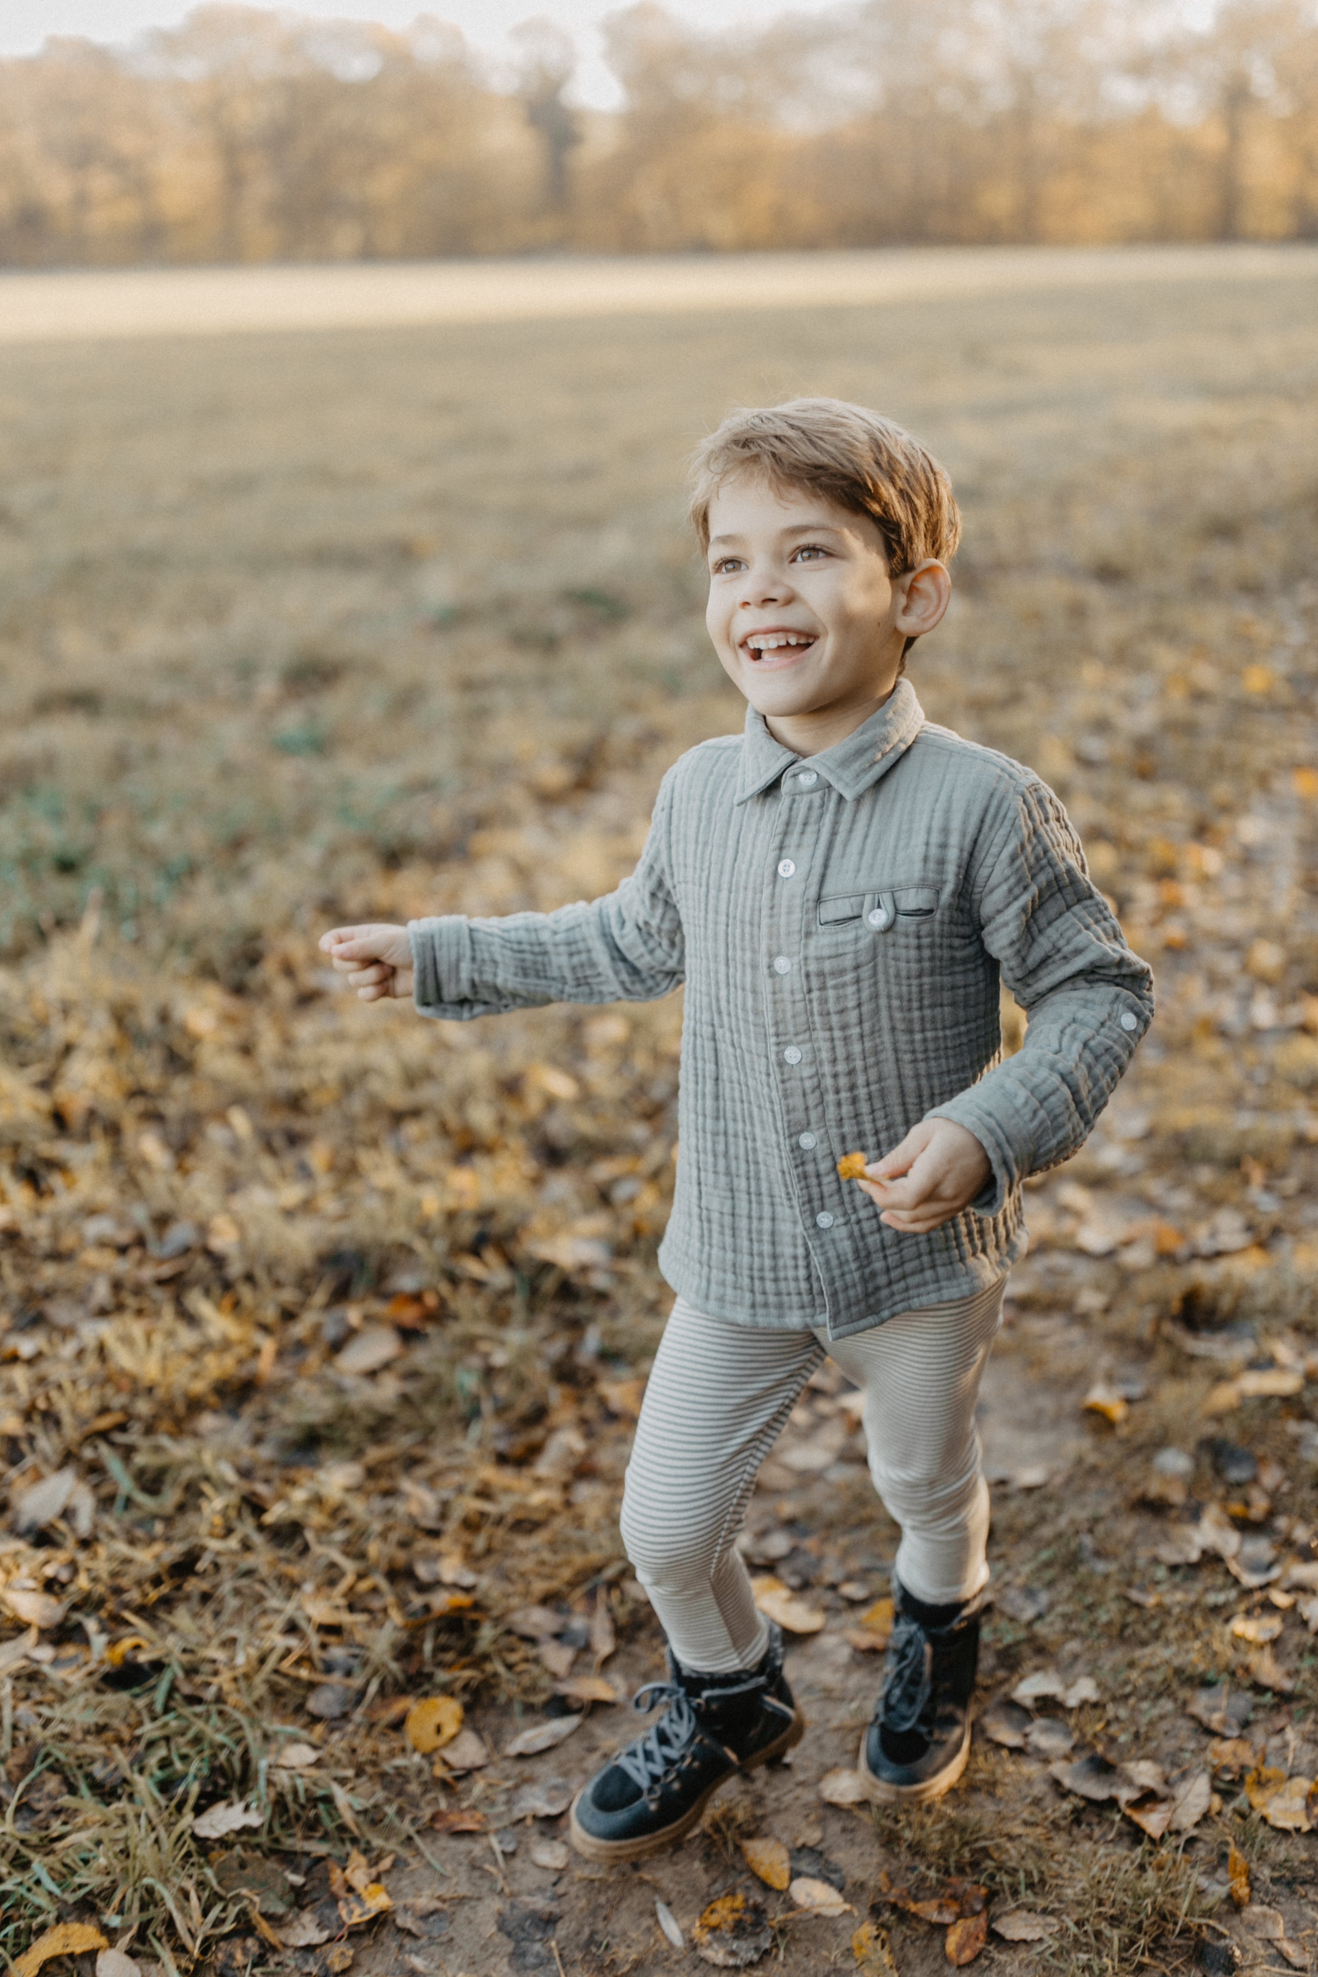
[(684, 1669), (753, 1669), (769, 1641), (735, 1548), (755, 1477), (824, 1358), (812, 1332), (707, 1319), (660, 1338), (622, 1495), (622, 1542)]

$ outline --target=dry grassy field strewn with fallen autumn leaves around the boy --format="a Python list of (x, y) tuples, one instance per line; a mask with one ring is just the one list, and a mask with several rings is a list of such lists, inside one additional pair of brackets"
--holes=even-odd
[[(814, 1977), (852, 1967), (887, 1870), (1055, 1920), (990, 1935), (986, 1969), (1312, 1961), (1306, 1793), (1288, 1829), (1259, 1807), (1318, 1773), (1318, 271), (1172, 265), (0, 350), (10, 1955), (77, 1920), (170, 1973), (352, 1949), (364, 1977), (620, 1977), (696, 1967), (656, 1894), (690, 1937), (741, 1890)], [(314, 941), (628, 870), (662, 769), (741, 722), (682, 459), (731, 401), (802, 389), (952, 469), (966, 546), (921, 698), (1055, 783), (1158, 971), (1111, 1117), (1031, 1190), (984, 1418), (984, 1704), (1045, 1667), (1099, 1702), (976, 1740), (933, 1813), (820, 1803), (875, 1686), (844, 1629), (893, 1546), (824, 1382), (751, 1514), (826, 1621), (788, 1661), (808, 1738), (601, 1880), (534, 1848), (620, 1710), (502, 1752), (581, 1706), (573, 1678), (658, 1669), (615, 1510), (666, 1311), (680, 1000), (447, 1030), (334, 992)], [(1170, 1445), (1186, 1475), (1152, 1469)], [(528, 1603), (537, 1639), (508, 1627)], [(1211, 1742), (1188, 1706), (1219, 1678), (1241, 1712)], [(439, 1692), (492, 1763), (411, 1750), (401, 1704)], [(1207, 1773), (1211, 1803), (1156, 1841), (1053, 1781), (1065, 1736)], [(229, 1801), (253, 1823), (194, 1837)], [(796, 1870), (834, 1864), (856, 1914), (757, 1888), (753, 1833), (814, 1848)], [(334, 1941), (354, 1845), (397, 1856), (407, 1932)], [(947, 1967), (941, 1930), (875, 1916), (903, 1977)]]

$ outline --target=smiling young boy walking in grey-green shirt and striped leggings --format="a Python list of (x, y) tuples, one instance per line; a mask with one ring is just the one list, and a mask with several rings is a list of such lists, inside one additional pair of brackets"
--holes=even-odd
[[(826, 1352), (865, 1396), (901, 1526), (860, 1769), (881, 1801), (960, 1777), (988, 1584), (974, 1404), (1026, 1249), (1022, 1180), (1085, 1141), (1152, 1016), (1053, 793), (931, 726), (903, 678), (950, 597), (939, 463), (862, 405), (796, 399), (725, 419), (694, 482), (705, 623), (749, 710), (668, 771), (634, 874), (555, 913), (320, 943), (366, 1000), (456, 1020), (686, 983), (660, 1249), (678, 1301), (622, 1497), (670, 1680), (636, 1696), (666, 1704), (654, 1728), (577, 1795), (573, 1843), (597, 1860), (680, 1839), (802, 1734), (735, 1538)], [(1030, 1016), (1006, 1062), (1000, 979)], [(838, 1174), (854, 1151), (858, 1184)]]

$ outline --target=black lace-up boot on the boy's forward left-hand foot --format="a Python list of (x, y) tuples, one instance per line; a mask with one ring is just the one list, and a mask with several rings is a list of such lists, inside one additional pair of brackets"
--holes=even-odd
[(804, 1718), (783, 1675), (783, 1633), (771, 1625), (757, 1669), (694, 1675), (668, 1653), (666, 1682), (632, 1708), (668, 1708), (577, 1793), (571, 1843), (589, 1860), (640, 1860), (680, 1841), (735, 1771), (753, 1771), (800, 1742)]

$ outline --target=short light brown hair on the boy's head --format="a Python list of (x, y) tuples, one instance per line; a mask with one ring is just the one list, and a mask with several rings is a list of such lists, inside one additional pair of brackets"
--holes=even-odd
[(773, 486), (812, 488), (867, 514), (887, 546), (893, 577), (927, 558), (947, 561), (960, 542), (952, 482), (901, 425), (842, 397), (792, 397), (784, 405), (729, 411), (692, 455), (692, 522), (709, 548), (709, 502), (735, 474)]

